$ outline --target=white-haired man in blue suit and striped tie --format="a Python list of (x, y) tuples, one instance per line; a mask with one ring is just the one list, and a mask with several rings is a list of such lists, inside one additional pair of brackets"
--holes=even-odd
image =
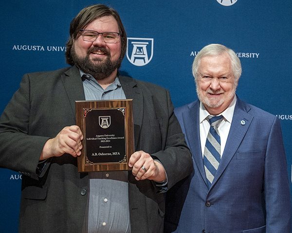
[(166, 193), (165, 233), (291, 232), (279, 119), (235, 94), (236, 53), (220, 44), (193, 62), (199, 100), (175, 109), (194, 171)]

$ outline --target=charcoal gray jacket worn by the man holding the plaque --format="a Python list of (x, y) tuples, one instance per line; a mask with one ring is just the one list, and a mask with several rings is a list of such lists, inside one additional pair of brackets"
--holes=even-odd
[[(168, 188), (192, 170), (192, 159), (166, 90), (119, 77), (133, 99), (136, 150), (164, 165)], [(24, 75), (0, 118), (0, 166), (22, 176), (21, 233), (80, 233), (85, 215), (88, 175), (77, 172), (76, 158), (51, 158), (37, 175), (43, 145), (65, 126), (75, 124), (75, 100), (84, 100), (76, 67)], [(150, 180), (128, 174), (132, 233), (163, 232), (164, 194)]]

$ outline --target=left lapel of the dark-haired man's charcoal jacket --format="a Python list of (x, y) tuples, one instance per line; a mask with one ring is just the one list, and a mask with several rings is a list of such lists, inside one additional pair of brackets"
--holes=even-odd
[(71, 67), (61, 75), (61, 79), (75, 118), (75, 100), (85, 100), (82, 79), (78, 68), (76, 66)]

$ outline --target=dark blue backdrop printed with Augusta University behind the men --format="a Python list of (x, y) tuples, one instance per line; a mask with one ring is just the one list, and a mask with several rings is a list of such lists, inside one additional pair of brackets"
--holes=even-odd
[[(24, 73), (67, 66), (69, 24), (92, 0), (10, 0), (0, 9), (0, 112)], [(107, 0), (128, 34), (121, 70), (167, 88), (175, 107), (197, 98), (191, 65), (209, 43), (237, 52), (238, 96), (281, 119), (292, 178), (291, 0)], [(134, 51), (134, 52), (133, 52)], [(0, 155), (1, 156), (1, 155)], [(17, 233), (21, 175), (0, 169), (0, 232)], [(279, 200), (280, 201), (280, 200)]]

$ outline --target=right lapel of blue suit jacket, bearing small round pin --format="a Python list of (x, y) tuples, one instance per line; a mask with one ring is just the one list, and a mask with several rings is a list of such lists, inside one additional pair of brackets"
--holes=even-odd
[[(227, 165), (229, 164), (230, 160), (237, 152), (237, 149), (254, 118), (253, 116), (248, 114), (249, 110), (250, 107), (237, 97), (237, 103), (234, 109), (230, 131), (212, 186), (216, 184), (216, 182), (226, 169)], [(210, 189), (212, 189), (212, 186), (210, 187)]]

